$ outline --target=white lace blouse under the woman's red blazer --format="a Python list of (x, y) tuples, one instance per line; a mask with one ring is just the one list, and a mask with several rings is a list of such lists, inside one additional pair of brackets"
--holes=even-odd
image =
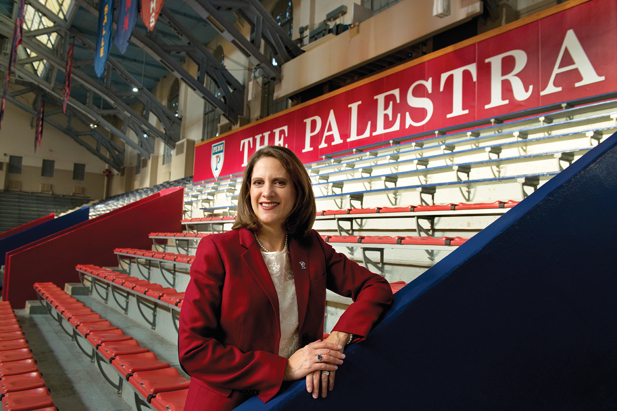
[(270, 271), (270, 277), (278, 294), (278, 311), (281, 319), (281, 341), (278, 355), (289, 358), (300, 348), (298, 333), (298, 300), (296, 282), (291, 269), (289, 250), (262, 251), (263, 261)]

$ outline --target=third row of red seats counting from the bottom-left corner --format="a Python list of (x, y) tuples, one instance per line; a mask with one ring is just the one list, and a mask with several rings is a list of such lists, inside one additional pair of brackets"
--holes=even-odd
[(83, 271), (84, 273), (87, 273), (94, 277), (104, 278), (107, 281), (113, 282), (119, 287), (123, 287), (127, 290), (132, 290), (135, 293), (157, 298), (160, 301), (175, 305), (176, 307), (182, 306), (184, 293), (178, 292), (176, 289), (170, 287), (163, 287), (162, 285), (156, 284), (154, 282), (139, 279), (138, 277), (131, 277), (127, 274), (121, 274), (117, 271), (113, 271), (107, 268), (101, 268), (96, 265), (78, 264), (77, 266), (75, 266), (75, 269)]

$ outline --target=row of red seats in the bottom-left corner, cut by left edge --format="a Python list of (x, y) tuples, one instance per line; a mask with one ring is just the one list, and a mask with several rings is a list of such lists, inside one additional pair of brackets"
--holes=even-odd
[(0, 302), (0, 399), (4, 411), (56, 411), (9, 301)]

